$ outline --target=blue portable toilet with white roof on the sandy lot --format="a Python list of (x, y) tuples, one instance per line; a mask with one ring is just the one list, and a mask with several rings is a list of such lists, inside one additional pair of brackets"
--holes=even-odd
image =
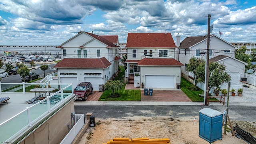
[(211, 108), (199, 112), (199, 136), (210, 143), (222, 139), (222, 112)]

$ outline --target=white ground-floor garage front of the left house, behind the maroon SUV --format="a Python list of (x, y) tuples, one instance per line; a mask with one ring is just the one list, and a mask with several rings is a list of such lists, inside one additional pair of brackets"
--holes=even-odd
[[(76, 75), (60, 75), (60, 73), (76, 73)], [(84, 73), (101, 73), (101, 76), (88, 76), (88, 75), (84, 75)], [(106, 74), (105, 74), (106, 73)], [(106, 69), (102, 69), (102, 68), (92, 68), (92, 69), (58, 69), (58, 76), (59, 76), (59, 83), (63, 83), (62, 81), (66, 81), (68, 80), (69, 83), (73, 82), (73, 88), (76, 88), (77, 84), (80, 84), (81, 82), (84, 82), (85, 78), (101, 78), (102, 81), (99, 84), (104, 84), (106, 82), (106, 78), (109, 78), (109, 74), (108, 74), (108, 68)], [(90, 79), (91, 80), (91, 79)], [(92, 82), (93, 83), (93, 82)], [(94, 88), (94, 90), (98, 90), (98, 84), (96, 84), (97, 86)]]

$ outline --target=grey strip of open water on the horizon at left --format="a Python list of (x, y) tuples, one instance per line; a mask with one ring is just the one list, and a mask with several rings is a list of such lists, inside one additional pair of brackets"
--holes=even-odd
[(56, 46), (0, 46), (0, 54), (4, 52), (18, 52), (18, 55), (38, 54), (38, 55), (56, 55), (60, 54), (60, 48)]

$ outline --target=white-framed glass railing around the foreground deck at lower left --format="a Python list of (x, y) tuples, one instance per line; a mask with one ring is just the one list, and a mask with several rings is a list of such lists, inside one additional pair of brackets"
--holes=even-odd
[[(14, 94), (15, 96), (20, 97), (22, 92), (2, 92), (2, 87), (4, 85), (14, 85), (19, 89), (23, 89), (23, 94), (25, 94), (25, 87), (31, 85), (38, 85), (37, 83), (25, 84), (22, 83), (18, 85), (18, 83), (0, 83), (0, 94)], [(51, 86), (54, 84), (51, 84)], [(26, 130), (29, 130), (33, 126), (36, 126), (38, 122), (42, 119), (46, 118), (50, 114), (50, 112), (54, 112), (59, 109), (60, 106), (68, 102), (71, 98), (74, 98), (72, 84), (56, 84), (57, 87), (60, 88), (58, 92), (47, 96), (40, 102), (33, 104), (32, 106), (26, 107), (26, 109), (22, 110), (12, 118), (2, 122), (0, 124), (0, 141), (1, 142), (14, 142), (17, 140), (20, 135), (24, 134)]]

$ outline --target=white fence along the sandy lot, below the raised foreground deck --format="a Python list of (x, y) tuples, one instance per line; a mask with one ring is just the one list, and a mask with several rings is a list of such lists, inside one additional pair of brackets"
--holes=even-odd
[(76, 124), (68, 132), (62, 142), (60, 142), (60, 144), (71, 144), (73, 142), (77, 134), (80, 132), (80, 130), (82, 130), (82, 127), (84, 126), (84, 114), (75, 114), (75, 123)]

